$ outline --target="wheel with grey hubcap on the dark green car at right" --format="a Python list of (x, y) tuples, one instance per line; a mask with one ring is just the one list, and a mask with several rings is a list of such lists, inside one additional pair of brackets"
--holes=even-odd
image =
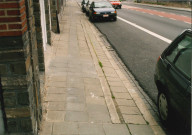
[(169, 109), (169, 103), (167, 96), (164, 92), (160, 92), (158, 94), (158, 111), (159, 111), (159, 116), (160, 119), (162, 120), (163, 124), (165, 126), (168, 125), (169, 123), (169, 114), (170, 114), (170, 109)]

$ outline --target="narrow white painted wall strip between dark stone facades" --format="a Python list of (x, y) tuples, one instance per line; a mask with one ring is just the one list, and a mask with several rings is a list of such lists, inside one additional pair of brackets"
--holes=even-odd
[(46, 29), (44, 0), (40, 0), (40, 10), (41, 10), (41, 28), (42, 28), (43, 47), (44, 47), (44, 51), (45, 51), (46, 45), (47, 45), (47, 29)]

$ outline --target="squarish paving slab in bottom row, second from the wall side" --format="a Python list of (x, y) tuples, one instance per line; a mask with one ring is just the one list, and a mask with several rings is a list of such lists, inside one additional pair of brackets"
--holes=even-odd
[(55, 122), (53, 124), (53, 134), (55, 135), (79, 134), (78, 123)]

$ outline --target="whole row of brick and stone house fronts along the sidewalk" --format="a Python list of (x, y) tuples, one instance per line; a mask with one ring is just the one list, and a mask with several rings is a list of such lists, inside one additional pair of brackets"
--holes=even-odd
[[(63, 0), (0, 0), (0, 134), (37, 134), (40, 77)], [(58, 6), (59, 5), (59, 6)]]

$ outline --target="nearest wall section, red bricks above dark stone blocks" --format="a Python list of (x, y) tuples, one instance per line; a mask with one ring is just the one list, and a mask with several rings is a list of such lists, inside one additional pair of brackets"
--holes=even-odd
[(34, 134), (41, 120), (32, 4), (31, 0), (0, 0), (0, 89), (8, 133)]

